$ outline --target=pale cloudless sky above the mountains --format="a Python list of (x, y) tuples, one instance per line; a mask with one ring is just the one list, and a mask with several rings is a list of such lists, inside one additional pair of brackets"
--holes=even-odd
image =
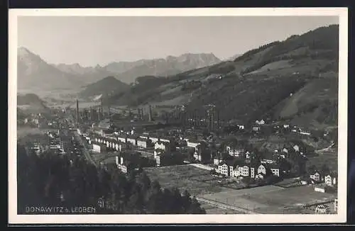
[(83, 67), (184, 53), (224, 60), (338, 23), (337, 16), (19, 16), (18, 47)]

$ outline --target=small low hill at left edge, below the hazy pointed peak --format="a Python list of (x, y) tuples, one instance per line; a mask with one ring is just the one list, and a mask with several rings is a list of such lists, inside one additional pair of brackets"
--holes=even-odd
[(17, 107), (20, 114), (26, 113), (46, 113), (49, 108), (45, 102), (41, 100), (36, 94), (24, 94), (17, 96)]

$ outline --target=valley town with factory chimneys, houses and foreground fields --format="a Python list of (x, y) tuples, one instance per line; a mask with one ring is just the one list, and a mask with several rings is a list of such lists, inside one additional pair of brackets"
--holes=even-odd
[[(334, 132), (266, 118), (226, 123), (214, 105), (198, 117), (184, 106), (167, 114), (151, 105), (143, 113), (103, 101), (90, 108), (75, 103), (18, 122), (47, 130), (26, 150), (51, 150), (124, 174), (146, 171), (162, 186), (191, 191), (207, 213), (337, 213), (337, 168), (310, 164), (317, 154), (334, 152)], [(312, 150), (301, 142), (317, 137), (329, 137), (329, 147)]]

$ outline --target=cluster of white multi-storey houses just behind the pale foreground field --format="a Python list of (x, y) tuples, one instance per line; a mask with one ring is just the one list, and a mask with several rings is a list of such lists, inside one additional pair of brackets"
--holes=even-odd
[(290, 165), (280, 164), (280, 160), (290, 158), (291, 153), (300, 154), (302, 148), (298, 145), (283, 147), (273, 153), (265, 152), (256, 161), (252, 151), (242, 147), (242, 145), (226, 145), (222, 147), (220, 143), (214, 143), (214, 150), (209, 149), (209, 144), (205, 141), (187, 140), (187, 147), (194, 149), (193, 157), (198, 162), (213, 164), (219, 174), (229, 177), (251, 177), (253, 179), (263, 179), (268, 174), (274, 176), (284, 176), (290, 173)]

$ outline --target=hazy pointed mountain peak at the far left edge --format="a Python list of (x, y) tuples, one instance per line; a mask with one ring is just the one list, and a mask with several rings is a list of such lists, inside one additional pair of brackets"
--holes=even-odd
[(18, 89), (72, 89), (82, 80), (61, 72), (24, 47), (17, 54)]

